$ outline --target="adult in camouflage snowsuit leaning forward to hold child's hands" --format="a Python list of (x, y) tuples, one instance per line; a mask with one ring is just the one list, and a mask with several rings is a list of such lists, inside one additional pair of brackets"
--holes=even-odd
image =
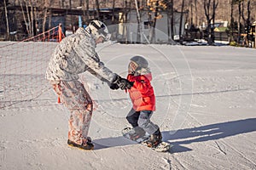
[(109, 39), (108, 28), (99, 20), (79, 28), (73, 35), (65, 37), (55, 48), (49, 59), (46, 78), (52, 84), (61, 102), (71, 112), (67, 144), (84, 150), (92, 150), (87, 137), (93, 105), (90, 95), (79, 82), (79, 74), (89, 71), (112, 89), (131, 88), (132, 83), (110, 71), (96, 54), (96, 44)]

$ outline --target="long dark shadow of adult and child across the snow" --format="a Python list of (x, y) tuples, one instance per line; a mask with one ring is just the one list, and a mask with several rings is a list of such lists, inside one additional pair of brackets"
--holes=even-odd
[[(224, 139), (242, 133), (256, 131), (256, 118), (249, 118), (232, 122), (220, 122), (201, 127), (180, 129), (177, 131), (162, 132), (163, 141), (173, 145), (172, 153), (189, 151), (191, 149), (183, 147), (182, 144), (205, 142), (210, 140)], [(95, 150), (109, 147), (137, 144), (122, 136), (108, 139), (95, 139)]]

